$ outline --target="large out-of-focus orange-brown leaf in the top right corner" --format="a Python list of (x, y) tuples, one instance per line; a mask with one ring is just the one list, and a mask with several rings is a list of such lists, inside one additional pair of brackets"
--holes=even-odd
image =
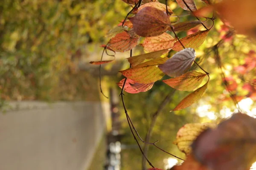
[(239, 34), (256, 38), (255, 0), (225, 0), (214, 7), (219, 16), (227, 20)]

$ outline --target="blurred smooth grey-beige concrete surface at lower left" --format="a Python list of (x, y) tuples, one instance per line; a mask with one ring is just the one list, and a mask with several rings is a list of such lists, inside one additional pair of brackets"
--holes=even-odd
[(86, 170), (108, 103), (12, 102), (0, 113), (0, 170)]

